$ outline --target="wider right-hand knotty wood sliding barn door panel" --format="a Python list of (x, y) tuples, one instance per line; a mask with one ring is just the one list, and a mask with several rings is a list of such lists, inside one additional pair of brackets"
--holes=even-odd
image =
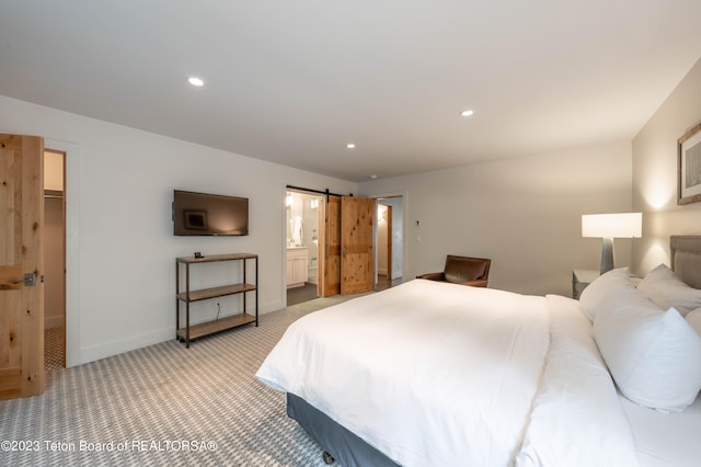
[(375, 287), (372, 220), (375, 200), (341, 200), (341, 295), (370, 292)]

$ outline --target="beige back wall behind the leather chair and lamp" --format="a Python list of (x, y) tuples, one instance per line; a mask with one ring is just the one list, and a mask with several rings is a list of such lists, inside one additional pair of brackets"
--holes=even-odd
[[(572, 269), (598, 269), (601, 242), (582, 238), (582, 214), (631, 207), (631, 146), (610, 144), (360, 184), (403, 193), (404, 280), (440, 271), (446, 254), (493, 260), (490, 287), (572, 292)], [(416, 223), (418, 221), (418, 226)], [(630, 263), (617, 240), (617, 264)]]

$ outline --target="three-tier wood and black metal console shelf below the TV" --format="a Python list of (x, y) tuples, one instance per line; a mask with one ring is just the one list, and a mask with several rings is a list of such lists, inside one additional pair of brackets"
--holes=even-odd
[[(219, 287), (203, 288), (191, 291), (189, 288), (189, 269), (193, 264), (214, 263), (221, 261), (238, 261), (241, 263), (243, 282), (240, 284), (228, 284)], [(255, 281), (249, 284), (246, 278), (246, 263), (251, 261), (255, 264)], [(181, 291), (181, 267), (185, 267), (185, 288)], [(255, 323), (258, 326), (258, 257), (250, 253), (235, 254), (217, 254), (205, 258), (181, 257), (175, 259), (175, 339), (185, 342), (185, 346), (189, 348), (189, 343), (198, 338), (214, 334), (215, 332), (225, 331), (227, 329), (239, 326)], [(255, 315), (246, 314), (246, 295), (248, 293), (255, 295)], [(214, 321), (202, 322), (198, 324), (189, 324), (189, 304), (194, 301), (207, 300), (211, 298), (225, 297), (228, 295), (242, 294), (243, 309), (240, 314), (227, 316)], [(181, 304), (185, 305), (185, 326), (181, 327)]]

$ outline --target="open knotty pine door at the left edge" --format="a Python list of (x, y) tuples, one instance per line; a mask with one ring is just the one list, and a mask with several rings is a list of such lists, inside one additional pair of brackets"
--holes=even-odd
[(44, 391), (43, 152), (0, 134), (0, 399)]

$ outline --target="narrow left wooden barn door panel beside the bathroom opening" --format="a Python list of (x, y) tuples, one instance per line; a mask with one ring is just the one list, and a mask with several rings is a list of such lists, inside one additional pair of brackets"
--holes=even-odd
[(322, 297), (341, 293), (341, 197), (327, 195), (324, 208), (324, 246), (320, 265), (323, 267)]

